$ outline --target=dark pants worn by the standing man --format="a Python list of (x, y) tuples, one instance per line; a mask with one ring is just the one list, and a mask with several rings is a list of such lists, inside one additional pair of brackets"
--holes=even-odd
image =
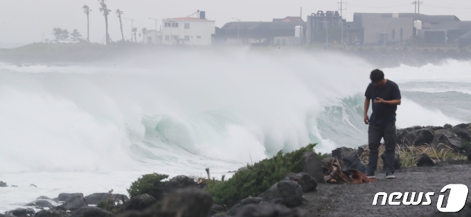
[(384, 171), (386, 173), (394, 173), (394, 150), (396, 149), (396, 123), (384, 126), (371, 125), (368, 127), (368, 148), (370, 149), (368, 167), (366, 167), (366, 175), (375, 174), (377, 167), (377, 157), (380, 148), (381, 138), (384, 138)]

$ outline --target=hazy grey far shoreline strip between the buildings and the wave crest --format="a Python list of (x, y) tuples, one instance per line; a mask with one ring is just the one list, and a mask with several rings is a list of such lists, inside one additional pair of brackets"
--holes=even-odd
[(101, 44), (28, 44), (18, 48), (0, 49), (0, 62), (4, 64), (15, 64), (17, 66), (30, 64), (45, 64), (54, 66), (66, 66), (76, 64), (99, 64), (100, 62), (127, 59), (133, 56), (145, 57), (146, 55), (165, 55), (173, 51), (197, 50), (205, 52), (208, 50), (230, 50), (249, 49), (256, 51), (270, 50), (299, 50), (308, 53), (322, 55), (323, 53), (339, 54), (346, 57), (364, 59), (377, 68), (406, 66), (425, 66), (427, 64), (441, 64), (447, 59), (458, 61), (470, 61), (471, 53), (468, 49), (454, 47), (377, 47), (377, 46), (353, 46), (348, 48), (332, 47), (322, 48), (319, 46), (163, 46), (149, 44), (112, 44), (104, 46)]

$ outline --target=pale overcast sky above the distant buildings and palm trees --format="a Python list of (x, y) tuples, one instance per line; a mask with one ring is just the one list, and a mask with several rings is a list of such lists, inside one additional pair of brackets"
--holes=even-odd
[[(241, 21), (271, 21), (273, 18), (299, 16), (303, 7), (303, 19), (317, 10), (338, 10), (340, 0), (108, 0), (109, 35), (114, 41), (121, 37), (115, 10), (123, 10), (123, 17), (134, 19), (134, 27), (155, 28), (155, 21), (186, 17), (196, 10), (206, 11), (206, 18), (215, 20), (216, 26), (238, 18)], [(344, 0), (347, 1), (344, 18), (353, 19), (354, 12), (414, 12), (414, 0)], [(420, 12), (425, 15), (456, 15), (471, 20), (470, 0), (422, 0)], [(100, 42), (105, 38), (105, 18), (100, 13), (97, 0), (0, 0), (0, 48), (1, 44), (32, 43), (53, 39), (54, 27), (74, 28), (86, 37), (87, 16), (82, 6), (87, 4), (90, 13), (90, 41)], [(131, 36), (131, 21), (123, 19), (125, 38)]]

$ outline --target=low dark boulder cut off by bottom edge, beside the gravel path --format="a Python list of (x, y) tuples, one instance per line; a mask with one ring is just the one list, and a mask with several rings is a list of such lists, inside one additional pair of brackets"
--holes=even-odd
[(282, 205), (260, 204), (242, 207), (237, 217), (307, 217), (308, 212), (303, 209), (288, 209)]

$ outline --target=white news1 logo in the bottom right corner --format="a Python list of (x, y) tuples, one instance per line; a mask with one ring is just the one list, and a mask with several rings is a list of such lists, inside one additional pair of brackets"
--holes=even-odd
[[(466, 185), (462, 184), (450, 184), (446, 185), (441, 189), (440, 193), (444, 193), (450, 189), (450, 194), (448, 195), (448, 200), (447, 200), (447, 206), (442, 207), (443, 205), (443, 198), (445, 196), (443, 194), (438, 196), (438, 202), (436, 204), (436, 209), (441, 212), (458, 212), (463, 207), (465, 207), (466, 204), (466, 199), (468, 198), (468, 187)], [(377, 205), (377, 200), (382, 196), (382, 201), (381, 205), (384, 206), (386, 205), (386, 200), (388, 202), (388, 205), (391, 206), (399, 206), (401, 205), (423, 205), (423, 206), (429, 206), (432, 204), (432, 200), (430, 200), (430, 197), (434, 196), (434, 192), (428, 192), (425, 194), (425, 200), (423, 201), (424, 198), (424, 193), (419, 192), (418, 197), (416, 198), (416, 192), (411, 192), (410, 194), (410, 199), (409, 199), (409, 192), (405, 192), (402, 194), (401, 192), (393, 192), (391, 194), (388, 194), (386, 192), (378, 192), (375, 194), (375, 198), (373, 199), (373, 206)], [(402, 198), (402, 201), (400, 199)], [(396, 200), (396, 201), (394, 201)], [(399, 200), (399, 201), (397, 201)]]

